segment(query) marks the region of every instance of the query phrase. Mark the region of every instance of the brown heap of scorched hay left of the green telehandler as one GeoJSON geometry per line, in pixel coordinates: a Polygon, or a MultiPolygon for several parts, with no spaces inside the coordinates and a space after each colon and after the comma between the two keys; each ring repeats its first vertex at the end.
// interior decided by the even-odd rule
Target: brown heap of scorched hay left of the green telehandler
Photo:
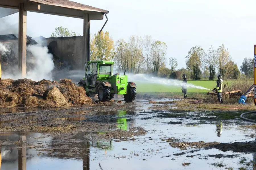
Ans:
{"type": "Polygon", "coordinates": [[[60,107],[92,104],[83,87],[69,79],[61,81],[32,81],[30,79],[2,79],[0,107],[60,107]]]}

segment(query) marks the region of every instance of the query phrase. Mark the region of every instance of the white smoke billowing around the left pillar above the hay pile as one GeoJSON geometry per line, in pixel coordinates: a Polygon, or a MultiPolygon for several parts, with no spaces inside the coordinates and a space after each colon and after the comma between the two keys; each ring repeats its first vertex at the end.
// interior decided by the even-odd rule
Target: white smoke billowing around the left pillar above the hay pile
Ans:
{"type": "Polygon", "coordinates": [[[27,46],[26,77],[21,76],[18,70],[18,40],[16,38],[18,37],[18,23],[10,23],[7,18],[8,16],[0,18],[0,35],[4,35],[2,36],[4,42],[0,43],[2,78],[28,78],[34,81],[47,79],[52,81],[53,55],[49,54],[48,48],[44,46],[45,39],[40,39],[36,45],[33,45],[34,42],[32,42],[31,45],[27,46]]]}

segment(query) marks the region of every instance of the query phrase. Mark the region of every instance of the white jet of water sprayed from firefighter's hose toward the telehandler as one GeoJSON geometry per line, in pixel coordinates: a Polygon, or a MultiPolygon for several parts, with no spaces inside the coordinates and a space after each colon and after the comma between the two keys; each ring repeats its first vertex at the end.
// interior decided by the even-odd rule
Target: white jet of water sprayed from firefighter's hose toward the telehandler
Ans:
{"type": "MultiPolygon", "coordinates": [[[[156,84],[166,84],[166,85],[172,85],[172,86],[182,86],[183,81],[176,80],[176,79],[164,79],[159,77],[152,77],[147,76],[145,74],[127,74],[128,75],[128,81],[134,81],[136,82],[144,82],[144,83],[156,83],[156,84]]],[[[189,88],[196,88],[196,89],[205,89],[209,90],[205,87],[196,86],[191,83],[187,83],[187,87],[189,88]]]]}

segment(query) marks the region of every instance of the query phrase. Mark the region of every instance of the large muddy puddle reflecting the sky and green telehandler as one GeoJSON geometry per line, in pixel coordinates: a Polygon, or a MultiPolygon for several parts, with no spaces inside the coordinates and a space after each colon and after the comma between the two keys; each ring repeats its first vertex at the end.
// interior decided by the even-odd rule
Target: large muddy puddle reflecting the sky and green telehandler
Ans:
{"type": "MultiPolygon", "coordinates": [[[[134,140],[95,140],[92,133],[85,132],[64,139],[62,135],[0,133],[1,170],[256,169],[255,148],[250,148],[256,142],[254,130],[226,120],[199,123],[200,117],[215,117],[198,112],[152,111],[148,109],[150,106],[148,100],[139,100],[138,106],[123,110],[53,119],[113,123],[122,131],[131,127],[142,127],[147,131],[146,135],[133,136],[134,140]],[[174,138],[177,143],[219,142],[222,146],[177,148],[166,141],[168,138],[174,138]],[[241,148],[245,148],[244,151],[241,148]]],[[[108,135],[107,132],[97,132],[97,135],[101,134],[108,135]]]]}

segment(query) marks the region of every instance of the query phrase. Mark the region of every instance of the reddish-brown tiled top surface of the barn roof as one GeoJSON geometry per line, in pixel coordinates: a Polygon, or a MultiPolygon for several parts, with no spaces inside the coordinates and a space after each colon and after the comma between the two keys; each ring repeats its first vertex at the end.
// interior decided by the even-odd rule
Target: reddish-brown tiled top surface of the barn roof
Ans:
{"type": "Polygon", "coordinates": [[[92,6],[89,6],[89,5],[84,5],[84,4],[69,1],[69,0],[42,0],[42,1],[46,1],[46,2],[49,2],[49,3],[53,3],[53,4],[58,4],[58,5],[67,5],[67,6],[71,6],[71,7],[78,7],[78,8],[84,8],[84,9],[89,9],[89,10],[96,10],[96,11],[99,11],[99,12],[106,12],[106,13],[109,12],[109,11],[106,11],[104,9],[99,9],[99,8],[96,8],[96,7],[92,7],[92,6]]]}

